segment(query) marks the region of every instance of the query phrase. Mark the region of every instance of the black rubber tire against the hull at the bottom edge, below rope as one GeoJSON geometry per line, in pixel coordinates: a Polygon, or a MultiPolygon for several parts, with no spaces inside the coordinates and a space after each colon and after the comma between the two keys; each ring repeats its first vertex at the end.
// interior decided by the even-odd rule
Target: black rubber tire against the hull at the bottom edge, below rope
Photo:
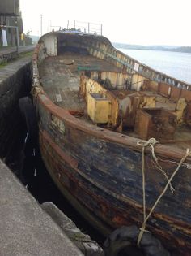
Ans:
{"type": "MultiPolygon", "coordinates": [[[[139,228],[136,226],[117,228],[104,242],[105,256],[122,255],[121,252],[128,247],[137,246],[139,228]]],[[[139,248],[146,256],[170,256],[161,242],[150,232],[144,232],[139,248]]],[[[128,254],[134,256],[134,254],[128,254]]]]}

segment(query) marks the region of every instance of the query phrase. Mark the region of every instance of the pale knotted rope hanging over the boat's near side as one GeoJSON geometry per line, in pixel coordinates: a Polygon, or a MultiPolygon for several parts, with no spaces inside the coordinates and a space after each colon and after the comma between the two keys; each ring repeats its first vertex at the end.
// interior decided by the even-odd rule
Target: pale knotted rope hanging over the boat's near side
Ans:
{"type": "Polygon", "coordinates": [[[176,170],[172,173],[172,176],[168,178],[167,174],[163,171],[162,167],[159,165],[158,159],[155,156],[155,148],[154,145],[159,143],[159,141],[156,141],[155,138],[151,138],[148,141],[138,141],[137,145],[142,146],[142,204],[143,204],[143,223],[142,228],[140,228],[140,232],[138,234],[138,246],[140,245],[140,242],[142,241],[142,236],[144,232],[148,232],[146,230],[146,222],[150,218],[151,214],[155,210],[155,207],[158,205],[160,199],[163,197],[164,193],[166,193],[168,186],[171,188],[172,193],[175,191],[174,188],[172,188],[172,179],[174,176],[176,176],[177,171],[179,171],[180,167],[184,164],[185,159],[191,155],[191,150],[187,149],[185,155],[181,158],[180,163],[176,167],[176,170]],[[163,175],[167,178],[168,182],[166,186],[164,187],[162,193],[160,193],[159,197],[156,199],[155,204],[152,206],[149,214],[146,216],[146,186],[145,186],[145,148],[146,146],[151,146],[151,156],[153,159],[155,159],[155,166],[163,173],[163,175]]]}

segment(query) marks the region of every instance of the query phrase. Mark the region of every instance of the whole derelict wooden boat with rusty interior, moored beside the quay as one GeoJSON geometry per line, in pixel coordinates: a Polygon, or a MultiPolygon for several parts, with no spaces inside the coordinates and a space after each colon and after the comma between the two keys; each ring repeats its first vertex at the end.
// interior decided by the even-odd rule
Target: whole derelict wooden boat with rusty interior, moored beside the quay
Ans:
{"type": "Polygon", "coordinates": [[[146,230],[190,255],[191,85],[76,31],[45,34],[32,64],[40,152],[65,197],[104,234],[140,228],[142,191],[148,215],[176,170],[146,230]]]}

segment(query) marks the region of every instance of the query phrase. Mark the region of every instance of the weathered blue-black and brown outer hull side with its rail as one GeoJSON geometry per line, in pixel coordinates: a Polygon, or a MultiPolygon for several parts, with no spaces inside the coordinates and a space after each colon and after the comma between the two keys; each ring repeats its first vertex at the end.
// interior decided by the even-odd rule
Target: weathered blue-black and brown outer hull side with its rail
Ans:
{"type": "MultiPolygon", "coordinates": [[[[90,41],[88,44],[91,46],[90,41]]],[[[70,203],[105,235],[123,225],[136,224],[141,228],[142,147],[138,145],[139,140],[88,124],[54,105],[40,87],[37,68],[42,59],[40,47],[36,47],[33,55],[33,97],[39,117],[40,151],[50,175],[70,203]]],[[[120,64],[119,58],[114,60],[120,64]]],[[[163,159],[159,163],[170,177],[185,150],[158,144],[155,154],[163,159]]],[[[145,163],[148,214],[167,180],[152,163],[150,147],[146,147],[145,163]]],[[[186,163],[190,165],[190,157],[186,163]]],[[[191,251],[190,184],[189,168],[180,167],[172,180],[175,193],[168,189],[146,223],[146,229],[176,255],[190,255],[191,251]]]]}

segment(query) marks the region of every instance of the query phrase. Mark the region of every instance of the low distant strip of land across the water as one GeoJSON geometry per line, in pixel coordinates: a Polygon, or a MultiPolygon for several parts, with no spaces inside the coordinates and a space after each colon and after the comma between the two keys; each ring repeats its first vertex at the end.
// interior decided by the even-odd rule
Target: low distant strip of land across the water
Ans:
{"type": "Polygon", "coordinates": [[[191,46],[139,46],[139,45],[127,45],[122,43],[112,43],[116,48],[122,48],[127,50],[164,50],[181,53],[191,53],[191,46]]]}

